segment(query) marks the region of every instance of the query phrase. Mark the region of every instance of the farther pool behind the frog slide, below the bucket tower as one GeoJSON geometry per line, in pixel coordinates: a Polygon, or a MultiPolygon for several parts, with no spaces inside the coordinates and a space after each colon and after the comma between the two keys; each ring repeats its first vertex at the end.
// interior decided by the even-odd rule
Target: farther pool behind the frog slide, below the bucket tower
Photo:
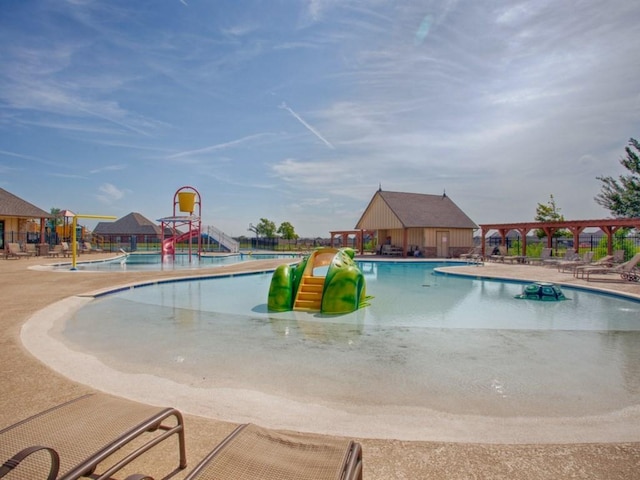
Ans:
{"type": "MultiPolygon", "coordinates": [[[[76,270],[89,272],[185,270],[223,267],[252,260],[297,258],[299,256],[297,253],[235,253],[200,256],[177,253],[175,256],[165,255],[163,258],[159,253],[130,253],[106,260],[92,260],[90,256],[83,256],[82,260],[76,264],[76,270]]],[[[69,265],[59,265],[56,269],[68,270],[69,265]]]]}

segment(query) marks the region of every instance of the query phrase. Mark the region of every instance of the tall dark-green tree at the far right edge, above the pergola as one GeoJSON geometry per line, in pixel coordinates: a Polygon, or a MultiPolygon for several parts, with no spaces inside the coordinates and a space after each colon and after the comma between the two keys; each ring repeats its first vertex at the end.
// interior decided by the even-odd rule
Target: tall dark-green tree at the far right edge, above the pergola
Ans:
{"type": "Polygon", "coordinates": [[[630,175],[621,175],[618,180],[596,177],[603,185],[595,201],[617,218],[635,218],[640,217],[640,143],[630,138],[625,151],[627,156],[620,160],[620,164],[630,175]]]}

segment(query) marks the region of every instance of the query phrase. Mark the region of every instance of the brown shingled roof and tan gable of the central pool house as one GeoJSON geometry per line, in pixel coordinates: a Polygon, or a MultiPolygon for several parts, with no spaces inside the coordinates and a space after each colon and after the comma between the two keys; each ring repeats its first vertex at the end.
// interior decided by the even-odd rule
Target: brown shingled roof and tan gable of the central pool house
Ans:
{"type": "MultiPolygon", "coordinates": [[[[379,217],[379,216],[378,216],[379,217]]],[[[383,215],[384,217],[384,215],[383,215]]],[[[379,220],[377,220],[379,221],[379,220]]],[[[383,229],[396,228],[471,228],[478,226],[446,195],[423,193],[386,192],[378,190],[369,202],[356,228],[383,229]],[[372,224],[374,209],[388,210],[393,218],[389,225],[372,224]]]]}

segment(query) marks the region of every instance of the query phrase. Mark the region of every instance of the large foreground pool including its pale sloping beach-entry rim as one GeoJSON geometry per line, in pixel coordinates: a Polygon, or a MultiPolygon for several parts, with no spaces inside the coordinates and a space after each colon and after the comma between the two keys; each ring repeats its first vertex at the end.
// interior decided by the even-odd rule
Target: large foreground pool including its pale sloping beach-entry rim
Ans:
{"type": "Polygon", "coordinates": [[[638,302],[572,289],[567,301],[525,302],[513,298],[522,284],[412,264],[361,268],[372,304],[341,316],[267,312],[268,274],[74,298],[58,306],[58,320],[39,320],[53,328],[45,343],[60,349],[46,362],[118,395],[271,427],[406,440],[638,440],[638,302]]]}

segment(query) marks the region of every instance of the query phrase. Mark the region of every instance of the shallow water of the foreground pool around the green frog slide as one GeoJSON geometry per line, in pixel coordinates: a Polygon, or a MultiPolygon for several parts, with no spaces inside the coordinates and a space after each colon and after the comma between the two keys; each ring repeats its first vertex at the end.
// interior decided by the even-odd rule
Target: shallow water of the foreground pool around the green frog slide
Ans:
{"type": "Polygon", "coordinates": [[[640,403],[640,302],[363,262],[367,308],[270,313],[271,274],[181,281],[96,299],[64,338],[123,372],[259,390],[346,412],[402,407],[581,416],[640,403]]]}

